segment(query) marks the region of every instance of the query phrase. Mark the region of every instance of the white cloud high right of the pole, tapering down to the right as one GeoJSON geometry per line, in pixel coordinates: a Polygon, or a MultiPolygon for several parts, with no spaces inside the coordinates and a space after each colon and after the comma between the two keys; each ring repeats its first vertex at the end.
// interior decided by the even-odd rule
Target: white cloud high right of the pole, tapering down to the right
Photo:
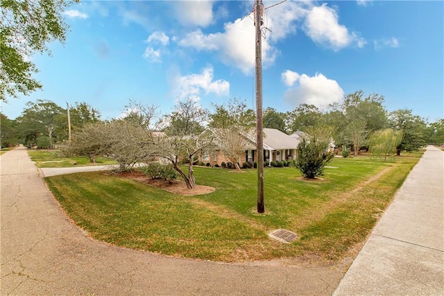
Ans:
{"type": "Polygon", "coordinates": [[[324,3],[309,10],[304,23],[305,33],[314,42],[339,51],[347,46],[356,44],[359,48],[366,44],[364,38],[357,33],[348,31],[348,28],[339,24],[339,17],[333,8],[324,3]]]}

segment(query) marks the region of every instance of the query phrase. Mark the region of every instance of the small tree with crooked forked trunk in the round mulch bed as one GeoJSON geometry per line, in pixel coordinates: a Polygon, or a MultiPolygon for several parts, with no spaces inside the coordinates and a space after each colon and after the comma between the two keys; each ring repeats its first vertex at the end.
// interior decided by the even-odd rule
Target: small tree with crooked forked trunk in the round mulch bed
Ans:
{"type": "Polygon", "coordinates": [[[179,101],[173,112],[165,116],[165,134],[154,137],[154,155],[171,162],[189,189],[196,185],[193,170],[195,159],[214,146],[216,136],[203,128],[206,121],[207,111],[188,98],[185,102],[179,101]],[[180,168],[182,161],[188,164],[187,174],[180,168]]]}

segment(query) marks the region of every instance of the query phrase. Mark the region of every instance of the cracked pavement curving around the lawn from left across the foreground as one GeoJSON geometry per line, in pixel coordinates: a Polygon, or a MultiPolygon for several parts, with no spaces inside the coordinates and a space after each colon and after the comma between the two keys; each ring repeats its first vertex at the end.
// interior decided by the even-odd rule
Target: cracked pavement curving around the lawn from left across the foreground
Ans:
{"type": "Polygon", "coordinates": [[[346,263],[216,263],[94,241],[62,214],[26,149],[1,162],[1,295],[332,295],[346,263]]]}

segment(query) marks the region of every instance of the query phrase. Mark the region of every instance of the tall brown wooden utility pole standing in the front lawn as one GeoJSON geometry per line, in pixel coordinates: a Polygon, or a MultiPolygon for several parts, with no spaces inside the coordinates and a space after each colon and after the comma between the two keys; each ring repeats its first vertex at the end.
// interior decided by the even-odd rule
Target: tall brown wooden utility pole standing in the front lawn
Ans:
{"type": "Polygon", "coordinates": [[[264,213],[264,137],[262,123],[262,0],[255,0],[256,28],[256,147],[257,147],[257,213],[264,213]]]}

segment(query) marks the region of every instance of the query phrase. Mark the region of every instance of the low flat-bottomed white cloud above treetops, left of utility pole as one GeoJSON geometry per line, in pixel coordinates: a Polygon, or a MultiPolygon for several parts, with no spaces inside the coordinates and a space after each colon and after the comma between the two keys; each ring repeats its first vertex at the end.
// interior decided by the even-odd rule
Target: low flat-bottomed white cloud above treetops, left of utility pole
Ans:
{"type": "Polygon", "coordinates": [[[213,68],[206,67],[199,74],[176,77],[176,91],[179,99],[190,96],[198,97],[200,92],[228,96],[230,94],[230,82],[226,80],[213,80],[213,68]]]}

